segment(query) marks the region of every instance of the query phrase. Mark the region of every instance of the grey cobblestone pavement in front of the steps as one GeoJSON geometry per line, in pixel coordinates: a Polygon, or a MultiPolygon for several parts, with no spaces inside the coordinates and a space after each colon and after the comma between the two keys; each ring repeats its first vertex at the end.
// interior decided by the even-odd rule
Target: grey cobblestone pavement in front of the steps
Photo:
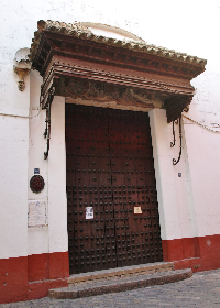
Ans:
{"type": "Polygon", "coordinates": [[[220,307],[220,270],[196,273],[168,285],[106,294],[79,299],[42,299],[1,304],[0,308],[212,308],[220,307]]]}

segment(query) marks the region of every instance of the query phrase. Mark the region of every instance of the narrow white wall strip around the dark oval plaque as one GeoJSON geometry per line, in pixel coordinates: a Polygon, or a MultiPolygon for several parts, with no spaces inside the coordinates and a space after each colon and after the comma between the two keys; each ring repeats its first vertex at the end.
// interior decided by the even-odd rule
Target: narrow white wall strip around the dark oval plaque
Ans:
{"type": "MultiPolygon", "coordinates": [[[[45,110],[40,108],[40,95],[42,77],[36,70],[30,74],[30,127],[29,127],[29,201],[45,201],[48,210],[48,162],[44,160],[46,151],[45,110]],[[30,189],[30,179],[34,175],[34,168],[40,169],[40,175],[44,178],[45,187],[40,194],[30,189]]],[[[28,229],[29,248],[28,254],[48,253],[48,226],[31,227],[28,229]]]]}

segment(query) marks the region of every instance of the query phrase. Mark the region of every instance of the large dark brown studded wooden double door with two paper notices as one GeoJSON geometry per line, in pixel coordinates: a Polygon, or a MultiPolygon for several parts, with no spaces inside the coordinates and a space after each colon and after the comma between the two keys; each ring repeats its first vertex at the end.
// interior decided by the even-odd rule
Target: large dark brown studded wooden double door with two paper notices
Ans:
{"type": "Polygon", "coordinates": [[[148,114],[66,105],[66,155],[70,273],[162,261],[148,114]]]}

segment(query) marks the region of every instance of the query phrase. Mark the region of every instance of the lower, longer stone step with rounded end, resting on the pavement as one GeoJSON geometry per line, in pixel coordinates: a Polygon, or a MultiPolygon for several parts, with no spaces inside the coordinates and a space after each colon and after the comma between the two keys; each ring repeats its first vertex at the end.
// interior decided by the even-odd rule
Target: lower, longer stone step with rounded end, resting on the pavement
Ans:
{"type": "Polygon", "coordinates": [[[48,296],[57,299],[79,298],[107,293],[118,293],[153,285],[174,283],[191,277],[190,268],[168,272],[157,272],[123,278],[97,279],[79,284],[70,284],[68,287],[48,290],[48,296]]]}

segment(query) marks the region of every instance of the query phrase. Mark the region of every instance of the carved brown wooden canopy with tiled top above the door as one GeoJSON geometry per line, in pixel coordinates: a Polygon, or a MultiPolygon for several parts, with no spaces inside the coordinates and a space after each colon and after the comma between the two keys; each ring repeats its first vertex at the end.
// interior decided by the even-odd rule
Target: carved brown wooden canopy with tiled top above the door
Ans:
{"type": "Polygon", "coordinates": [[[42,107],[54,95],[66,101],[150,111],[179,118],[194,96],[190,80],[206,61],[143,41],[95,35],[88,26],[40,21],[30,58],[43,76],[42,107]]]}

